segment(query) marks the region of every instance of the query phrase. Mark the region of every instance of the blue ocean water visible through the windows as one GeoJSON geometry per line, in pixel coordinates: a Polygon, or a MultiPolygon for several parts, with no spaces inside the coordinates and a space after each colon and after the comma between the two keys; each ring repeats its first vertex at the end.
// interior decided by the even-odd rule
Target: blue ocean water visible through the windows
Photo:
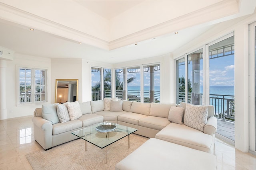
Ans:
{"type": "MultiPolygon", "coordinates": [[[[128,86],[128,90],[140,90],[140,86],[128,86]]],[[[150,90],[149,86],[144,86],[144,90],[150,90]]],[[[155,86],[155,91],[160,91],[160,86],[155,86]]],[[[203,87],[200,87],[203,93],[203,87]]],[[[210,94],[234,96],[234,86],[210,86],[210,94]]]]}

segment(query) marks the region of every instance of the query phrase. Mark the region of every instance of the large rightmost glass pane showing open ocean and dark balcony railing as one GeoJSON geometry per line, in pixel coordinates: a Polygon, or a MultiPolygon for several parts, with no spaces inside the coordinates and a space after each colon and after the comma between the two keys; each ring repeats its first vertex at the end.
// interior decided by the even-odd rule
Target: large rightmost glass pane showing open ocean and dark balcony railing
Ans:
{"type": "Polygon", "coordinates": [[[234,121],[234,36],[209,46],[223,55],[209,60],[210,105],[216,117],[234,121]]]}

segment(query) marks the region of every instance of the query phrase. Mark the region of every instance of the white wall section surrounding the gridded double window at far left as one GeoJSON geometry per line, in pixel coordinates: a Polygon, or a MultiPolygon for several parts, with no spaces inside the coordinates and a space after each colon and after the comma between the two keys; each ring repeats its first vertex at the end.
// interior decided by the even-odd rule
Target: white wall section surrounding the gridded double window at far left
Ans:
{"type": "MultiPolygon", "coordinates": [[[[42,68],[48,70],[47,89],[48,96],[50,96],[51,88],[51,62],[48,58],[28,56],[22,54],[14,54],[13,61],[7,61],[6,68],[6,109],[7,119],[12,117],[20,117],[26,115],[33,115],[35,108],[42,107],[42,103],[37,104],[16,104],[17,86],[19,81],[16,75],[16,66],[23,66],[29,68],[42,68]]],[[[4,80],[1,80],[4,81],[4,80]]],[[[50,98],[49,98],[50,99],[50,98]]],[[[49,100],[48,102],[51,102],[49,100]]]]}

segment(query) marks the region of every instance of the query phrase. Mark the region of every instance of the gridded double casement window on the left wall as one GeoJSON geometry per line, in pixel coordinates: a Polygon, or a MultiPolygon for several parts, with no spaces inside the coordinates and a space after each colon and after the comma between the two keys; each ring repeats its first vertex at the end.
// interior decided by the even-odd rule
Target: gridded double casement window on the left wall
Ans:
{"type": "Polygon", "coordinates": [[[46,101],[46,70],[19,68],[19,103],[46,101]]]}

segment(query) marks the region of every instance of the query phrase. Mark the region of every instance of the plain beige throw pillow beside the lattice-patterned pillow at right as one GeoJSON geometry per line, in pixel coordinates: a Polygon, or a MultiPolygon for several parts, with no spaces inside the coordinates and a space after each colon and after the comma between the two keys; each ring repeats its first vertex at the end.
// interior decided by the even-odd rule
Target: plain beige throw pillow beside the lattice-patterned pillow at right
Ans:
{"type": "Polygon", "coordinates": [[[182,124],[183,114],[183,107],[172,106],[169,111],[168,120],[174,123],[182,124]]]}

